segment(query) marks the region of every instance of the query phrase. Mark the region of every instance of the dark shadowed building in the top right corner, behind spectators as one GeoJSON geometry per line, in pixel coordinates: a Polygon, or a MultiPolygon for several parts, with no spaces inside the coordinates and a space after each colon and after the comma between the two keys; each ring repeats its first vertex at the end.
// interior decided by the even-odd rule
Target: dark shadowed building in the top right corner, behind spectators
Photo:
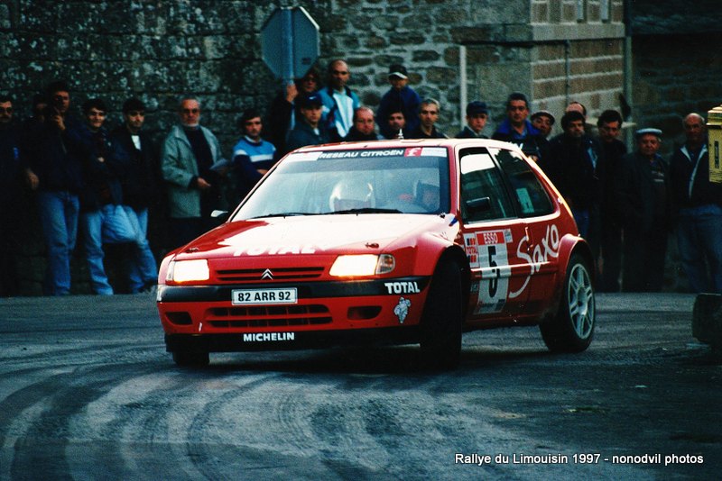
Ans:
{"type": "Polygon", "coordinates": [[[663,152],[684,141],[687,113],[707,116],[722,104],[722,5],[716,0],[634,0],[628,32],[632,41],[632,104],[644,126],[662,129],[663,152]]]}

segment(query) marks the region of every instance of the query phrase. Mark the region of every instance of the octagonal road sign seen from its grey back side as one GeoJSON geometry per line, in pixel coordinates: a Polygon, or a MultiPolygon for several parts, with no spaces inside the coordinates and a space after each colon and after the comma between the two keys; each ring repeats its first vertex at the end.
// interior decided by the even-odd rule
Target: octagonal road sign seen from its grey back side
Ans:
{"type": "Polygon", "coordinates": [[[261,29],[261,45],[268,68],[291,82],[319,58],[319,24],[301,6],[277,8],[261,29]]]}

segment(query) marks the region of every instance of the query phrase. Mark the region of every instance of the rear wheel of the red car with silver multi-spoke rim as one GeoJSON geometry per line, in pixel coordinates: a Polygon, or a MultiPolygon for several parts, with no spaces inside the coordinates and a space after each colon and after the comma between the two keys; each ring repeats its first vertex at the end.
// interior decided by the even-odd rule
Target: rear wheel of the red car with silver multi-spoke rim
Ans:
{"type": "Polygon", "coordinates": [[[594,287],[588,262],[579,254],[572,254],[559,311],[539,325],[542,339],[552,352],[581,352],[592,341],[595,321],[594,287]]]}

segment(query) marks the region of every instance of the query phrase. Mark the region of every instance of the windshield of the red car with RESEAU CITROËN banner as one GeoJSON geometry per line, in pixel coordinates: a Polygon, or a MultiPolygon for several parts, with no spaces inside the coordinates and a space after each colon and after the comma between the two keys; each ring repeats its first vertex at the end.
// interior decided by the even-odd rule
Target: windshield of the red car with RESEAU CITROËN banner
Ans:
{"type": "Polygon", "coordinates": [[[446,148],[292,153],[233,221],[327,213],[449,212],[446,148]]]}

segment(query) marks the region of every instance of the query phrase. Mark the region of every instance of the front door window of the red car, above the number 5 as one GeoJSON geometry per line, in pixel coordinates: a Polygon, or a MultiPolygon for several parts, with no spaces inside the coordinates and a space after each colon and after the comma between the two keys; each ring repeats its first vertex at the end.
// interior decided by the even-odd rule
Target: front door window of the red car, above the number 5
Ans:
{"type": "Polygon", "coordinates": [[[461,168],[461,217],[465,222],[491,221],[514,216],[504,181],[494,160],[485,152],[464,155],[461,168]]]}

